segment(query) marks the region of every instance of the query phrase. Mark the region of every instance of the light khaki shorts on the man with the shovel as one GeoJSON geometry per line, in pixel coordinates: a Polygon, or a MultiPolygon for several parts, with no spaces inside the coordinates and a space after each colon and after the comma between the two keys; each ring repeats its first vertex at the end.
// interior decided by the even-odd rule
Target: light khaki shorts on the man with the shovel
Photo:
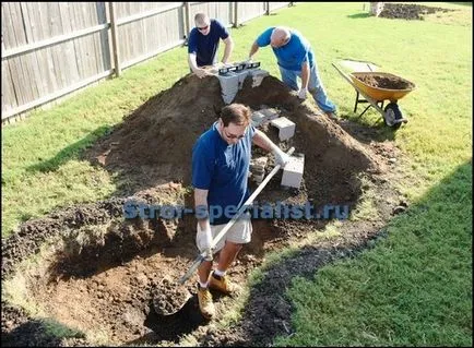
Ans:
{"type": "MultiPolygon", "coordinates": [[[[211,232],[212,232],[212,239],[214,240],[215,237],[218,235],[218,232],[222,231],[222,229],[227,224],[223,225],[211,225],[211,232]]],[[[197,228],[198,232],[195,233],[195,244],[198,245],[198,249],[200,252],[203,252],[203,241],[204,241],[204,233],[201,232],[201,228],[197,228]]],[[[214,247],[213,252],[216,253],[221,249],[224,248],[224,244],[226,241],[237,243],[237,244],[245,244],[250,242],[252,237],[252,221],[250,219],[250,214],[245,213],[242,216],[234,223],[234,225],[228,229],[227,233],[220,240],[220,242],[214,247]]]]}

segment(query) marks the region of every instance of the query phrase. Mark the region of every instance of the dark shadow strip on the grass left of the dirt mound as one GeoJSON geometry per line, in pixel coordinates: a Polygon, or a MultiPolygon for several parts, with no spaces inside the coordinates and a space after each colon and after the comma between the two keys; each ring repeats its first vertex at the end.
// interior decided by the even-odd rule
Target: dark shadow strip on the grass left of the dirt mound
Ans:
{"type": "Polygon", "coordinates": [[[56,171],[60,166],[62,166],[67,161],[71,159],[80,158],[84,149],[92,146],[99,137],[108,134],[109,132],[110,132],[110,127],[102,125],[96,130],[94,130],[93,132],[88,133],[80,141],[64,147],[59,153],[57,153],[54,157],[46,160],[42,160],[35,165],[27,167],[26,171],[31,173],[56,171]]]}

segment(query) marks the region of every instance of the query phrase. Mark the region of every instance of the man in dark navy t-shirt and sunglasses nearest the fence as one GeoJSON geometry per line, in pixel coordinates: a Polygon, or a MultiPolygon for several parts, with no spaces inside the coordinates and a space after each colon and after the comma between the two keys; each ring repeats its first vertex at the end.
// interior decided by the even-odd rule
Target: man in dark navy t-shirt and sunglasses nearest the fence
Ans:
{"type": "Polygon", "coordinates": [[[234,41],[226,27],[216,20],[210,20],[205,13],[197,13],[194,23],[195,27],[189,34],[188,62],[191,71],[202,79],[208,73],[201,67],[213,65],[216,62],[220,39],[225,45],[222,58],[224,64],[230,57],[234,41]]]}

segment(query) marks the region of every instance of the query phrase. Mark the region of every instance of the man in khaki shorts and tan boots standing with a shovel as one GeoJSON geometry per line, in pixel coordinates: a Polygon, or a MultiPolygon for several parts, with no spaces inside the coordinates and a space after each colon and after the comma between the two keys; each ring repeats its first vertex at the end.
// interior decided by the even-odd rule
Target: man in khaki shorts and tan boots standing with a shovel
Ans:
{"type": "Polygon", "coordinates": [[[244,243],[251,238],[252,225],[247,213],[232,226],[211,250],[212,240],[249,197],[247,188],[252,143],[271,151],[282,167],[289,156],[263,132],[251,124],[251,111],[241,104],[230,104],[221,118],[204,132],[192,148],[192,185],[198,217],[195,242],[206,255],[198,268],[199,308],[205,319],[214,315],[209,287],[226,295],[237,290],[226,276],[244,243]],[[202,213],[205,214],[202,214],[202,213]],[[246,215],[247,214],[247,215],[246,215]],[[211,273],[213,253],[218,252],[217,267],[211,273]]]}

